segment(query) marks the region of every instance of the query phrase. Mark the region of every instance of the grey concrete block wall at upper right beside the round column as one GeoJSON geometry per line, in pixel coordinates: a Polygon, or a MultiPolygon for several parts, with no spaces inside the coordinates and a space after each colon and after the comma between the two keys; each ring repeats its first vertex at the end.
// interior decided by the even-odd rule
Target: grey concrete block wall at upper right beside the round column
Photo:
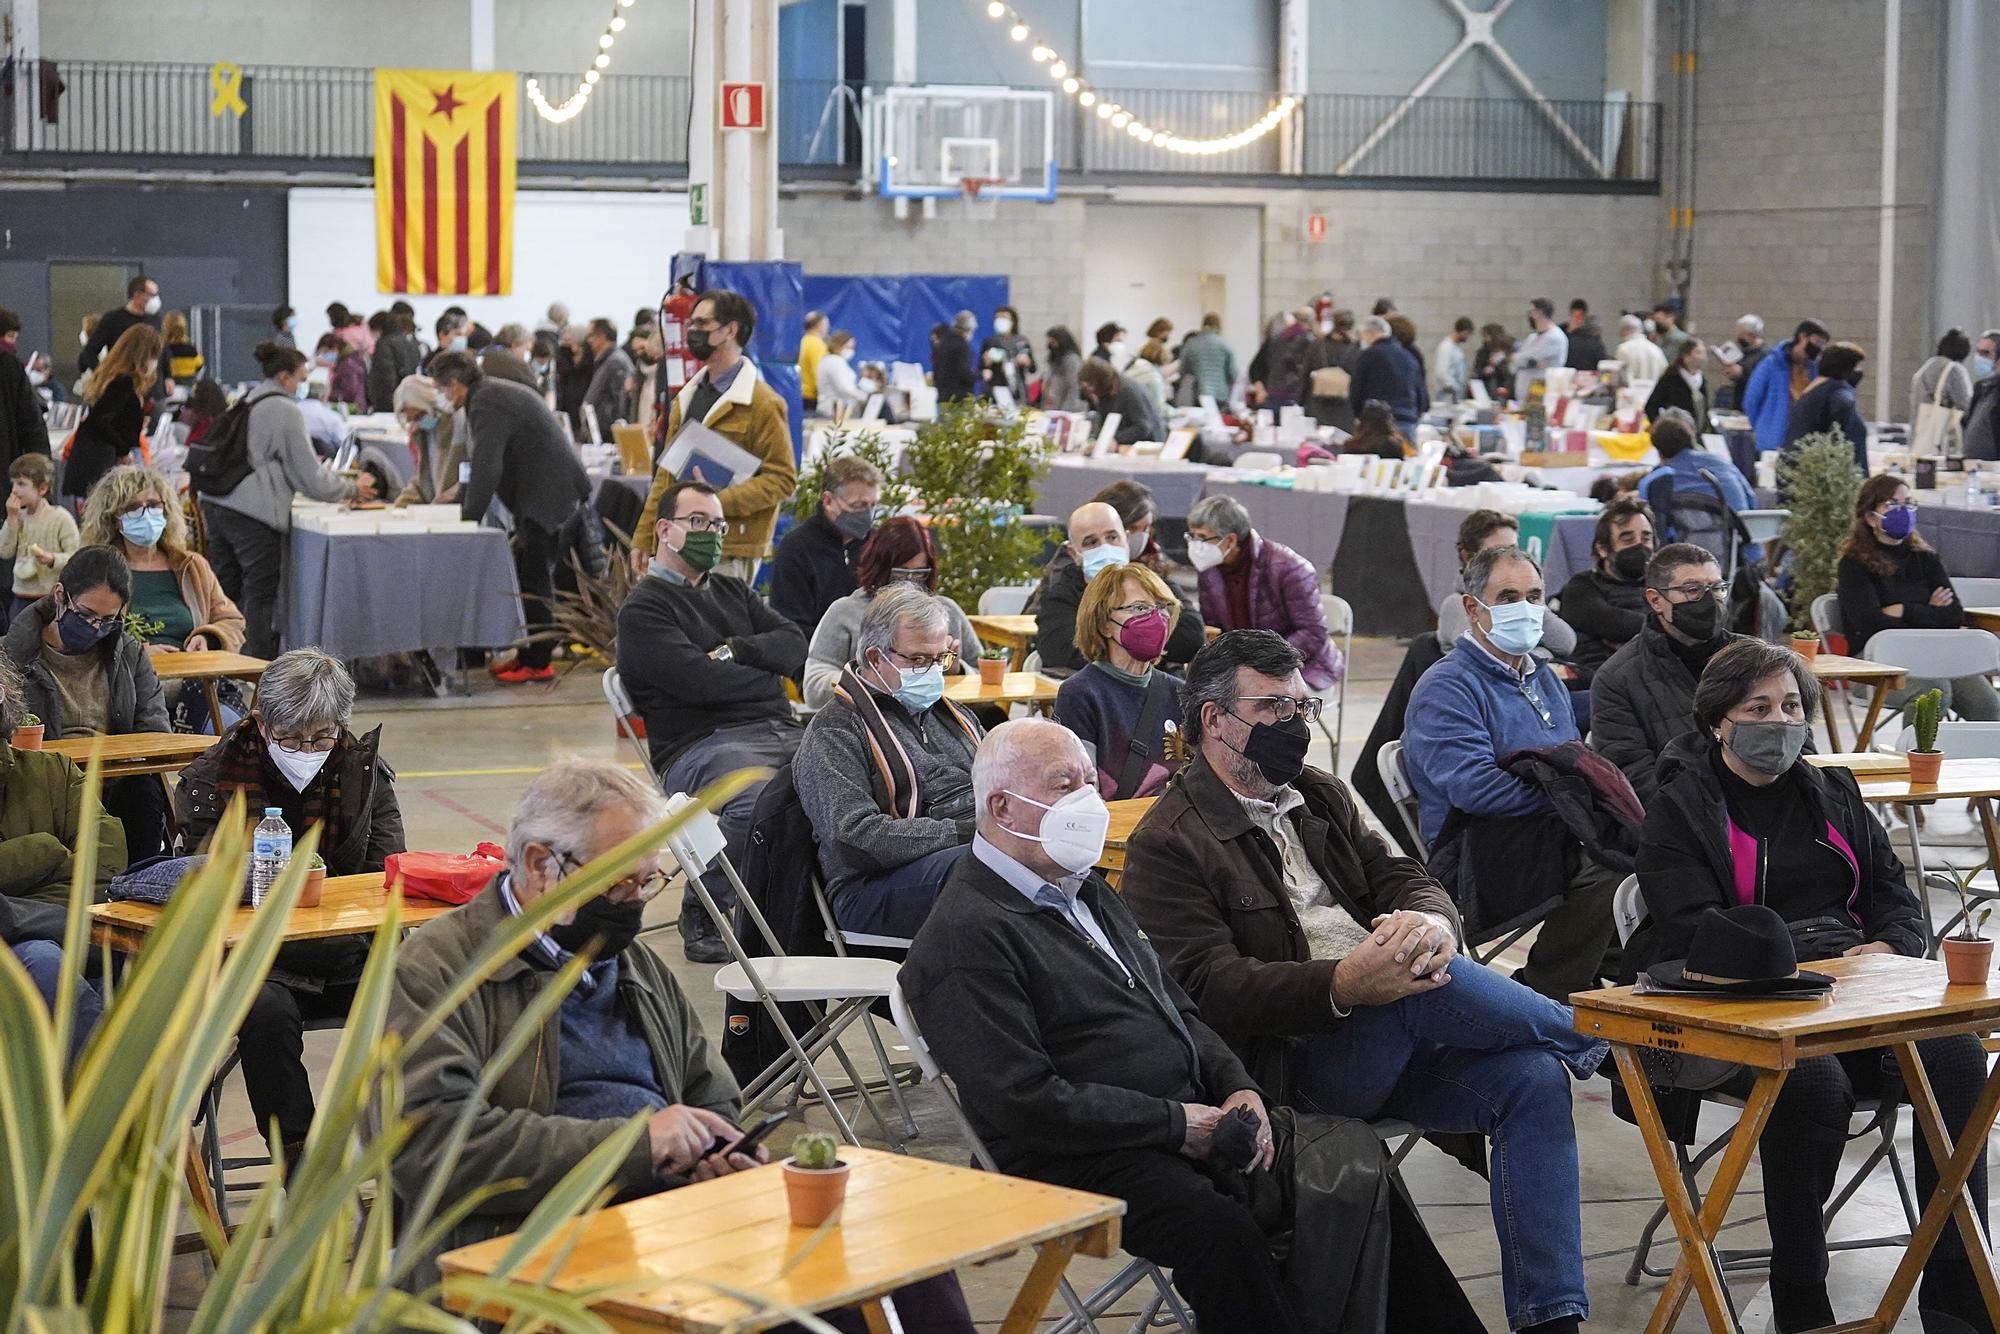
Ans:
{"type": "MultiPolygon", "coordinates": [[[[1744,312],[1784,338],[1804,316],[1868,348],[1888,416],[1940,330],[1928,320],[1936,0],[1902,0],[1896,260],[1890,346],[1878,346],[1882,0],[1704,0],[1696,60],[1690,316],[1726,338],[1744,312]]],[[[1876,384],[1862,410],[1876,416],[1876,384]]]]}

